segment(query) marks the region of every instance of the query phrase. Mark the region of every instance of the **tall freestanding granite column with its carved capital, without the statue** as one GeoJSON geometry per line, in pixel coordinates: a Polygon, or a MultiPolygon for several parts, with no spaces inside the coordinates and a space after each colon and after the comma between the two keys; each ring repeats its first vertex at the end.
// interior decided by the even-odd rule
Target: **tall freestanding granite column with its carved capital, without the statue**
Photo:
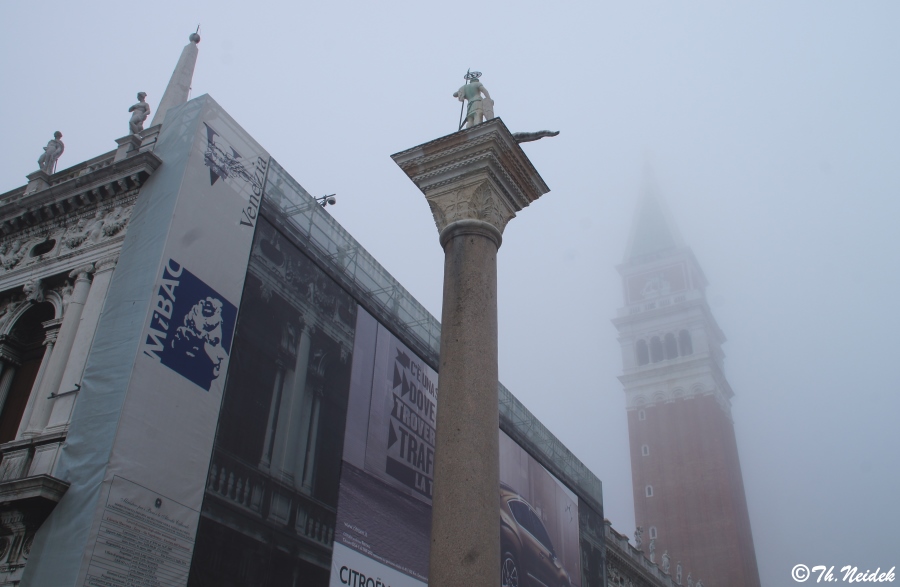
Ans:
{"type": "Polygon", "coordinates": [[[392,156],[425,194],[444,249],[430,587],[500,581],[497,249],[549,191],[500,119],[392,156]]]}

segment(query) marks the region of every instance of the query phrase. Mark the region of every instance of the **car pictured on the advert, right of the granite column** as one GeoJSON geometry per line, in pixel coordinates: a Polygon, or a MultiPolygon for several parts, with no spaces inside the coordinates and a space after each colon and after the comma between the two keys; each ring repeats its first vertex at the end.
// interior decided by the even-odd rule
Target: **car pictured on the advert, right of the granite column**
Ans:
{"type": "Polygon", "coordinates": [[[570,587],[553,541],[534,508],[500,484],[501,587],[570,587]]]}

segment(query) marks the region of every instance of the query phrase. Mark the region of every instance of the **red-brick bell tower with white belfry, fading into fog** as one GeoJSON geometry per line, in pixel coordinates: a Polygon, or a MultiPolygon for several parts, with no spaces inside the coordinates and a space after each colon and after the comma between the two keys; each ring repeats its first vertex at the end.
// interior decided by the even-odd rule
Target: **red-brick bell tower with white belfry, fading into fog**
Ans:
{"type": "Polygon", "coordinates": [[[635,523],[669,574],[710,587],[759,587],[719,329],[706,278],[662,200],[638,204],[613,320],[622,345],[635,523]]]}

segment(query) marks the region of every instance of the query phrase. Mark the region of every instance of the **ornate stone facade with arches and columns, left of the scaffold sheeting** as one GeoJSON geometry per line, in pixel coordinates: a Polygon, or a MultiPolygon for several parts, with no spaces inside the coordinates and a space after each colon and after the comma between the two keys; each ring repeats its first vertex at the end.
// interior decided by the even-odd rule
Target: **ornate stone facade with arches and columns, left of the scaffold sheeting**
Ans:
{"type": "Polygon", "coordinates": [[[135,200],[161,163],[152,139],[124,142],[0,195],[0,584],[17,583],[66,490],[54,472],[85,361],[135,200]]]}

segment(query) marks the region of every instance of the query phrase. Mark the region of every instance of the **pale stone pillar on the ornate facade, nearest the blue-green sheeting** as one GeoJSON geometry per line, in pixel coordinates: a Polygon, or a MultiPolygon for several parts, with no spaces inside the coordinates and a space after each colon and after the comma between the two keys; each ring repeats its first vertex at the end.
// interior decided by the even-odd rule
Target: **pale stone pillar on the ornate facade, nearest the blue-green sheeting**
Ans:
{"type": "MultiPolygon", "coordinates": [[[[116,268],[117,259],[118,255],[114,255],[94,264],[94,278],[91,281],[90,291],[87,294],[87,300],[84,302],[84,308],[81,310],[78,330],[72,343],[68,362],[63,371],[59,393],[74,391],[81,385],[81,376],[84,374],[88,353],[90,353],[91,345],[94,342],[94,333],[97,331],[97,324],[100,322],[100,313],[103,310],[103,303],[106,301],[106,293],[109,291],[109,282],[112,279],[113,270],[116,268]]],[[[77,281],[75,285],[77,288],[77,281]]],[[[72,292],[72,300],[75,300],[74,291],[72,292]]],[[[72,302],[69,302],[70,309],[72,307],[71,304],[72,302]]],[[[69,425],[69,418],[72,416],[72,408],[75,406],[77,397],[77,392],[71,393],[58,398],[53,403],[50,420],[47,423],[47,432],[62,430],[69,425]]]]}

